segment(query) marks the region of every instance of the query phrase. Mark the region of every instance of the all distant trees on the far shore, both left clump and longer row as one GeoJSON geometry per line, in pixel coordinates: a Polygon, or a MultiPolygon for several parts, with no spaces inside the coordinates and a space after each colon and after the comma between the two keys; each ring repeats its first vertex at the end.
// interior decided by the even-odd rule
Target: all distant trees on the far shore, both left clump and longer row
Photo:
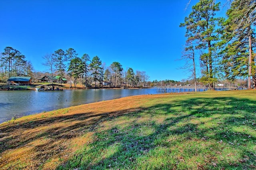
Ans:
{"type": "MultiPolygon", "coordinates": [[[[42,78],[42,74],[34,71],[32,64],[25,60],[25,56],[12,47],[6,47],[1,53],[1,81],[5,82],[11,76],[31,76],[32,80],[42,78]]],[[[76,87],[77,83],[82,86],[149,86],[149,76],[145,71],[134,72],[132,68],[124,69],[119,62],[113,62],[106,66],[98,56],[90,59],[88,54],[78,57],[72,48],[67,50],[58,49],[54,53],[48,53],[42,57],[44,66],[50,71],[50,82],[58,75],[58,82],[62,84],[63,78],[68,77],[70,87],[72,82],[76,87]]]]}

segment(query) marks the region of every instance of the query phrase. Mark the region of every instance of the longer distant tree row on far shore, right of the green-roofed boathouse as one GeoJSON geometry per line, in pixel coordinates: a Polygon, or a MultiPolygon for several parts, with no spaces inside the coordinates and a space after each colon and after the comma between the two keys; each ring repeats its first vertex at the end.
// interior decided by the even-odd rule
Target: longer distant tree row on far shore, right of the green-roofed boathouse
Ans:
{"type": "MultiPolygon", "coordinates": [[[[94,85],[100,87],[103,84],[109,87],[120,86],[147,86],[149,76],[145,71],[134,72],[132,68],[124,68],[119,62],[113,62],[106,66],[98,56],[90,59],[88,54],[78,57],[76,51],[72,48],[66,51],[58,49],[53,54],[44,55],[44,65],[51,70],[56,68],[60,79],[64,76],[65,69],[70,80],[74,80],[74,86],[79,81],[85,86],[94,85]]],[[[53,76],[51,76],[53,77],[53,76]]],[[[70,87],[72,82],[70,81],[70,87]]]]}

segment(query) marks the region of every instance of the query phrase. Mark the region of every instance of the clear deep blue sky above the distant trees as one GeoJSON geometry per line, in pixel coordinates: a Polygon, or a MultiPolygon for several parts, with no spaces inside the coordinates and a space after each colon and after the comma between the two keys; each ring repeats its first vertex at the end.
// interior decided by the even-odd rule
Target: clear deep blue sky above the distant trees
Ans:
{"type": "Polygon", "coordinates": [[[197,1],[189,0],[0,0],[0,52],[20,51],[37,71],[42,56],[73,48],[109,66],[146,71],[150,80],[187,78],[180,59],[180,28],[197,1]]]}

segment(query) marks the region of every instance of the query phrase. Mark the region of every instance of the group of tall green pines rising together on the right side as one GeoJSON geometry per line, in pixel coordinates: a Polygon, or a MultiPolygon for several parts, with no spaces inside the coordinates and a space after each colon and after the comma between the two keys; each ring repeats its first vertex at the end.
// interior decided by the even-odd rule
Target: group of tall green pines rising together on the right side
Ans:
{"type": "Polygon", "coordinates": [[[180,23],[186,28],[182,59],[196,84],[196,59],[200,81],[214,89],[218,79],[247,78],[248,89],[256,88],[256,1],[232,0],[225,17],[216,15],[220,2],[200,0],[180,23]],[[252,81],[251,81],[252,77],[252,81]],[[252,82],[252,84],[251,84],[252,82]]]}

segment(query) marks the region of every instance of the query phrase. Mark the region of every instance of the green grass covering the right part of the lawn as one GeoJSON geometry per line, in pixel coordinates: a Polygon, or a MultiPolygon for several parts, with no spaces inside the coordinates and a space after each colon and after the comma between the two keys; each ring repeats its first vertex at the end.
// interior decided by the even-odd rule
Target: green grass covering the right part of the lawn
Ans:
{"type": "Polygon", "coordinates": [[[145,100],[91,131],[92,142],[57,169],[256,169],[256,91],[145,100]]]}

